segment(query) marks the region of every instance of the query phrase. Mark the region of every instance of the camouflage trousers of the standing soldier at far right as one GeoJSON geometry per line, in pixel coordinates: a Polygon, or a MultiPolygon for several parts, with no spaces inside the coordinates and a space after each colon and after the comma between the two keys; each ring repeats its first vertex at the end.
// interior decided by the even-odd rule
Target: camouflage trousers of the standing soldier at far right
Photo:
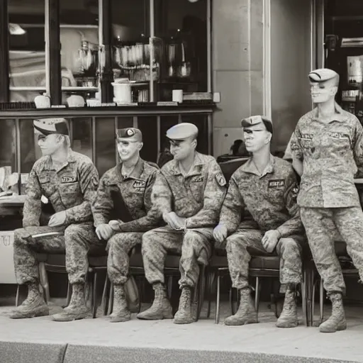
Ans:
{"type": "Polygon", "coordinates": [[[347,243],[347,252],[363,281],[363,212],[360,207],[303,208],[301,221],[308,236],[316,269],[328,294],[345,294],[345,282],[335,255],[337,232],[347,243]]]}

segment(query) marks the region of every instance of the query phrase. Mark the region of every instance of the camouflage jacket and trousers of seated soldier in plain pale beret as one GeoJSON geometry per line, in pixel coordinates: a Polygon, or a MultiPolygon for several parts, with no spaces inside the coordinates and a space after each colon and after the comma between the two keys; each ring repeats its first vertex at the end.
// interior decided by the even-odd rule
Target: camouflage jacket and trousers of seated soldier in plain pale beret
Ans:
{"type": "Polygon", "coordinates": [[[181,288],[195,286],[198,263],[207,264],[211,256],[213,226],[218,221],[224,195],[225,179],[214,157],[196,152],[186,175],[181,173],[176,160],[162,167],[152,198],[160,214],[174,211],[186,218],[186,230],[162,227],[143,235],[145,277],[150,284],[164,283],[164,259],[167,252],[172,252],[181,254],[181,288]]]}

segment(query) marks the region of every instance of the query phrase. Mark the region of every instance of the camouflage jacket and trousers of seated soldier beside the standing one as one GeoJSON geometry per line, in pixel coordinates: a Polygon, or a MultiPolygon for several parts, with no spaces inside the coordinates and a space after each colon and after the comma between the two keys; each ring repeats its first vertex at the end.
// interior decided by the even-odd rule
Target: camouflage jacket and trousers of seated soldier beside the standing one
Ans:
{"type": "Polygon", "coordinates": [[[233,287],[249,286],[251,255],[269,255],[261,242],[267,230],[278,230],[281,235],[276,247],[281,284],[301,282],[304,236],[297,194],[291,164],[272,155],[262,175],[251,159],[233,174],[220,212],[220,224],[228,229],[226,250],[233,287]]]}

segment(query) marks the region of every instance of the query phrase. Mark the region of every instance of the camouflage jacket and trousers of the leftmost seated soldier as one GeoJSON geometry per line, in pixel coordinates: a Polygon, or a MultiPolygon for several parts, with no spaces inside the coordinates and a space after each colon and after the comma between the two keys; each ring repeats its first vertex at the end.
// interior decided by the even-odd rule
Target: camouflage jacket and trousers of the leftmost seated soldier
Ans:
{"type": "Polygon", "coordinates": [[[50,157],[35,162],[27,184],[23,209],[23,228],[14,231],[14,265],[18,284],[33,284],[39,279],[35,252],[66,252],[66,269],[71,284],[84,283],[90,247],[101,247],[92,225],[91,202],[96,195],[99,175],[88,157],[69,151],[67,164],[55,170],[50,157]],[[41,196],[55,212],[65,211],[65,226],[40,226],[41,196]],[[48,232],[64,235],[40,237],[48,232]]]}

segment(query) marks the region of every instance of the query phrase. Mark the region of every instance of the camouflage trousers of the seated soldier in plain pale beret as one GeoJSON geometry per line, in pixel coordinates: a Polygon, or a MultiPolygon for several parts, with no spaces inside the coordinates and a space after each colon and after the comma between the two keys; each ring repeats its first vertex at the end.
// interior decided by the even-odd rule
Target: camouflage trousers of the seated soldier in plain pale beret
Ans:
{"type": "Polygon", "coordinates": [[[181,255],[179,285],[196,286],[199,265],[208,264],[211,257],[213,228],[193,228],[184,231],[160,227],[143,235],[145,277],[150,284],[164,284],[164,261],[168,252],[181,255]]]}

